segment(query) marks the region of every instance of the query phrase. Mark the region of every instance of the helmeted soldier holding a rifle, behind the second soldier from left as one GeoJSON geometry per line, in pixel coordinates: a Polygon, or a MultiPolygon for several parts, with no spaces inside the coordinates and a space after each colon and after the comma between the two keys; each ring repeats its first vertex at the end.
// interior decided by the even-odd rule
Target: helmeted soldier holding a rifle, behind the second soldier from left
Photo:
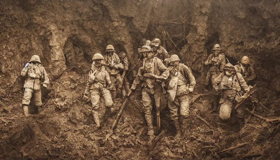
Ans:
{"type": "Polygon", "coordinates": [[[109,73],[111,82],[113,84],[111,88],[112,97],[115,99],[117,97],[117,89],[122,82],[119,70],[123,69],[123,65],[120,63],[120,58],[115,53],[115,49],[112,45],[108,45],[106,47],[105,63],[107,66],[106,70],[109,73]]]}

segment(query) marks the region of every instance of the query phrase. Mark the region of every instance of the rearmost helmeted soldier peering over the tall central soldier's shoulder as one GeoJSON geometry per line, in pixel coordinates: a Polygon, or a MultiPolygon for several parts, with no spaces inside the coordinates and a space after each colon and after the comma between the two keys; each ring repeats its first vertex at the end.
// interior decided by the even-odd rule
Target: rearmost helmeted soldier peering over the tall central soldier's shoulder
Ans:
{"type": "Polygon", "coordinates": [[[151,42],[151,47],[157,58],[163,60],[164,62],[168,61],[168,58],[170,56],[169,56],[168,52],[163,48],[163,46],[160,45],[160,40],[158,38],[155,38],[151,42]]]}

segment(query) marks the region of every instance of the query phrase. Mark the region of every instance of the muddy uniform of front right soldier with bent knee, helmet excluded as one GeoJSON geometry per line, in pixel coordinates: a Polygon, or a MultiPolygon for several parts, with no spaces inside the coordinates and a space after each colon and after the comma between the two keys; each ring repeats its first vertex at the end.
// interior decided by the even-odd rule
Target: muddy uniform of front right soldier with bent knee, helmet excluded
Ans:
{"type": "MultiPolygon", "coordinates": [[[[241,87],[244,90],[248,90],[248,85],[240,73],[236,73],[229,78],[224,72],[215,78],[213,83],[219,85],[219,90],[222,90],[222,97],[219,102],[221,104],[219,117],[223,121],[228,121],[230,120],[234,102],[238,103],[241,101],[241,87]]],[[[245,103],[242,103],[242,106],[236,110],[236,113],[238,118],[244,117],[245,103]]]]}

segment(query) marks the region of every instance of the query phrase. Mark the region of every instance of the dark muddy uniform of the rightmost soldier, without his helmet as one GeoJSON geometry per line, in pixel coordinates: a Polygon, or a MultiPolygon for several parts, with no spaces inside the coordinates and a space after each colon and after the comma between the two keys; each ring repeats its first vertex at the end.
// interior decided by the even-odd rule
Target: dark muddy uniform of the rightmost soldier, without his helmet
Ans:
{"type": "Polygon", "coordinates": [[[244,78],[245,82],[248,83],[250,80],[253,80],[256,78],[256,73],[254,68],[252,68],[250,65],[247,67],[244,67],[240,62],[237,63],[237,65],[234,66],[236,72],[241,73],[242,77],[244,78]]]}

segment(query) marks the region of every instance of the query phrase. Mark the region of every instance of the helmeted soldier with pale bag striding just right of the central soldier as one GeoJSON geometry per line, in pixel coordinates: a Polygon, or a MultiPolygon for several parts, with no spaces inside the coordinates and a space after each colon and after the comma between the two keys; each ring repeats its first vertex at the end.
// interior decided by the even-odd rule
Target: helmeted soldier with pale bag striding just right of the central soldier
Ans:
{"type": "Polygon", "coordinates": [[[181,136],[178,108],[180,107],[180,113],[184,119],[189,117],[188,93],[193,91],[196,82],[191,70],[183,63],[180,63],[180,59],[176,54],[170,57],[168,70],[170,73],[167,84],[168,109],[177,130],[175,137],[178,138],[181,136]]]}

